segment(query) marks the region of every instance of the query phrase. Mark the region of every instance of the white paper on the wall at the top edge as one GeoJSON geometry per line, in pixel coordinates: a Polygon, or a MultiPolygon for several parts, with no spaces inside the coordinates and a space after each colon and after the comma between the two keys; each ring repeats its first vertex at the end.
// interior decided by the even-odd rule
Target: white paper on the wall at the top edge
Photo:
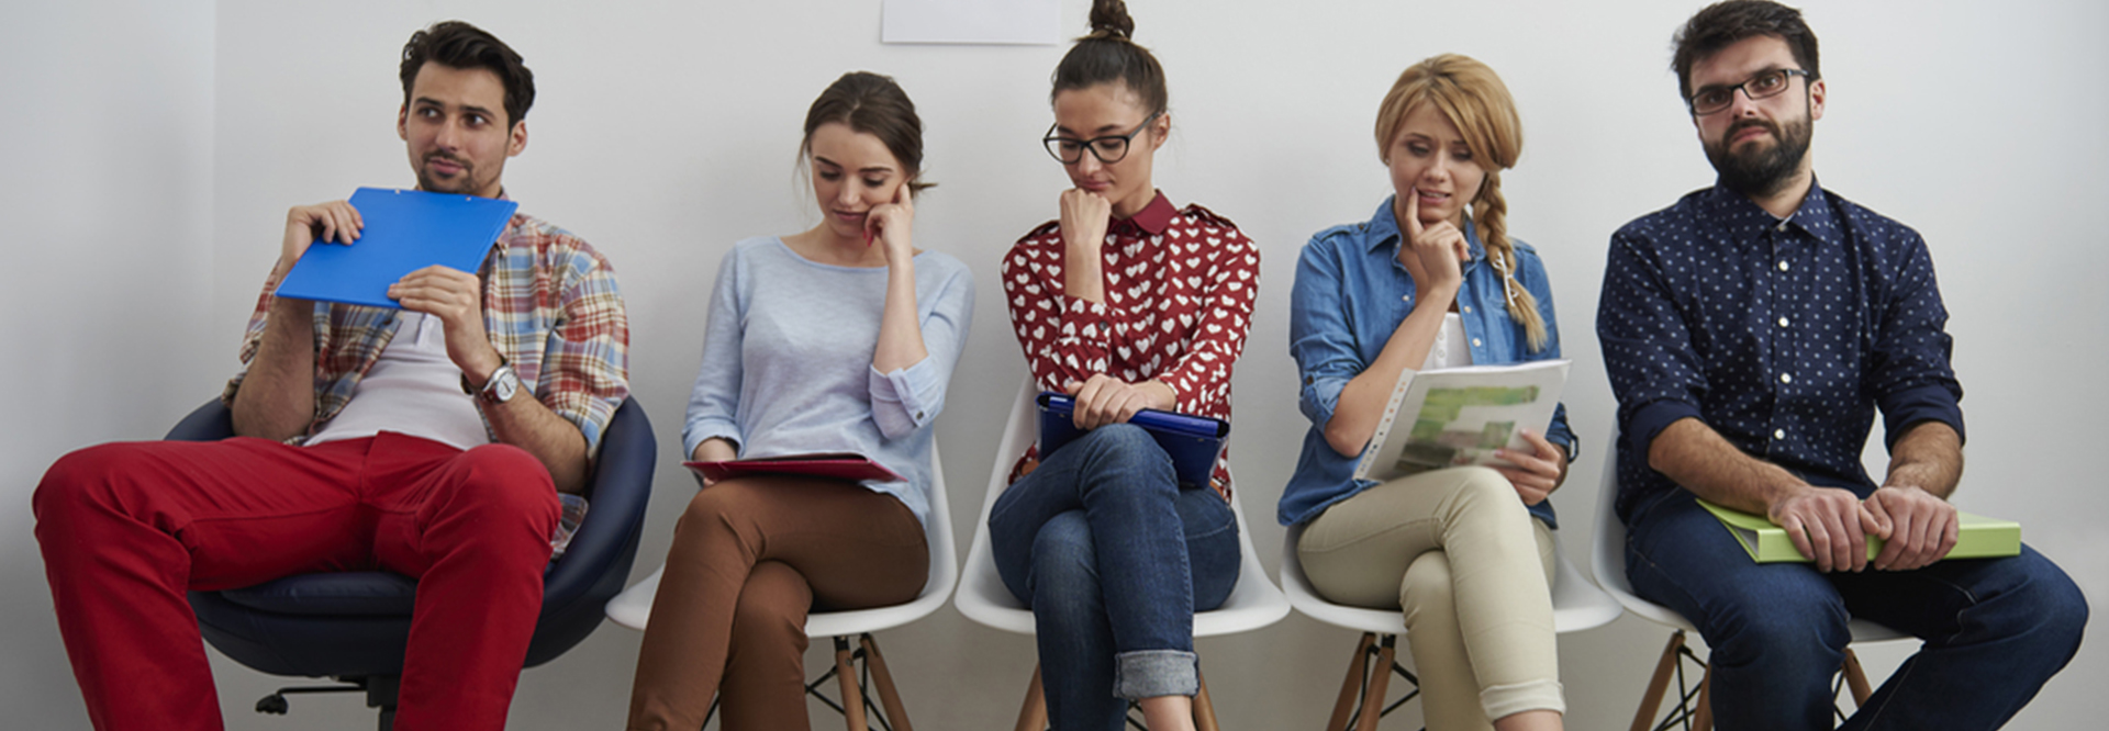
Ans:
{"type": "Polygon", "coordinates": [[[1059,44],[1059,0],[886,0],[884,42],[1059,44]]]}

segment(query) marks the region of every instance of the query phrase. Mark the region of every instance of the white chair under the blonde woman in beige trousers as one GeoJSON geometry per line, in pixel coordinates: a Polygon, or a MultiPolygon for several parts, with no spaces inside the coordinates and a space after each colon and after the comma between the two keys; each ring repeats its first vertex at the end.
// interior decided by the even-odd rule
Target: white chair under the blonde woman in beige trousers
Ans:
{"type": "MultiPolygon", "coordinates": [[[[1335,605],[1318,596],[1310,577],[1303,575],[1303,560],[1297,556],[1297,539],[1301,537],[1303,527],[1297,525],[1282,539],[1282,592],[1289,594],[1289,605],[1305,617],[1362,632],[1348,666],[1348,678],[1341,680],[1339,699],[1333,704],[1333,718],[1324,727],[1327,731],[1348,729],[1352,718],[1356,731],[1373,731],[1377,718],[1419,695],[1419,678],[1396,661],[1396,643],[1407,634],[1407,619],[1398,609],[1335,605]],[[1415,689],[1386,706],[1384,697],[1392,674],[1407,678],[1415,689]],[[1358,697],[1360,708],[1356,708],[1358,697]]],[[[1559,562],[1552,575],[1552,630],[1561,634],[1582,632],[1618,619],[1620,609],[1611,594],[1590,584],[1582,569],[1567,560],[1567,550],[1559,539],[1552,541],[1552,550],[1559,562]]]]}

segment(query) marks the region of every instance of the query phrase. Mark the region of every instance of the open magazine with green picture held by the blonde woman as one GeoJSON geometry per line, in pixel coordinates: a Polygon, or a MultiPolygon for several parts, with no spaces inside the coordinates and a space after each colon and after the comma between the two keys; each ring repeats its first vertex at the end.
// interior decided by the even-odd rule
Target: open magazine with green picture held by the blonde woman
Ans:
{"type": "Polygon", "coordinates": [[[1533,451],[1521,430],[1540,434],[1552,423],[1571,360],[1535,360],[1497,367],[1464,367],[1398,373],[1384,421],[1369,436],[1358,480],[1462,468],[1510,466],[1493,451],[1533,451]]]}

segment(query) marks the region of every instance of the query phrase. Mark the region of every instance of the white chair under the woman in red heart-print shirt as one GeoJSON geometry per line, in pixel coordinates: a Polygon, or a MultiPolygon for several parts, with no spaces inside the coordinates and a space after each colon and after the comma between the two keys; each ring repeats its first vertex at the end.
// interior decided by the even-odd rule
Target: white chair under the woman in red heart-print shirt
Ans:
{"type": "MultiPolygon", "coordinates": [[[[1004,440],[995,447],[995,466],[989,468],[989,493],[981,503],[981,522],[974,525],[974,544],[966,550],[966,575],[960,584],[960,596],[953,598],[953,605],[968,619],[1014,634],[1033,634],[1033,611],[1012,596],[995,573],[995,556],[989,550],[989,510],[995,508],[995,497],[1010,487],[1010,463],[1040,436],[1040,409],[1033,404],[1033,383],[1025,381],[1010,407],[1010,423],[1004,426],[1004,440]]],[[[1289,615],[1289,600],[1274,588],[1274,581],[1268,581],[1268,571],[1259,565],[1259,554],[1253,552],[1253,531],[1244,527],[1244,508],[1238,506],[1236,497],[1232,497],[1230,508],[1238,516],[1238,552],[1242,556],[1238,586],[1223,600],[1223,607],[1194,613],[1194,636],[1259,630],[1289,615]]],[[[1046,693],[1040,687],[1040,668],[1033,666],[1033,680],[1025,691],[1025,706],[1019,708],[1017,729],[1046,729],[1046,693]]],[[[1194,725],[1202,731],[1217,729],[1206,678],[1200,683],[1200,695],[1194,697],[1194,725]]]]}

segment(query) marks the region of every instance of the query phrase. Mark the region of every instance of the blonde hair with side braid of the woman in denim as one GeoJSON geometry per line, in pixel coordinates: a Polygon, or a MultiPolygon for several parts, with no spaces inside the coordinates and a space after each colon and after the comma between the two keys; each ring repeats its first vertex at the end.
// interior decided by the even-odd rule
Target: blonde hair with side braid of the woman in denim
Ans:
{"type": "Polygon", "coordinates": [[[1502,171],[1516,166],[1516,158],[1523,156],[1523,118],[1516,116],[1516,101],[1491,67],[1470,57],[1445,53],[1415,63],[1398,74],[1398,82],[1377,107],[1379,160],[1390,162],[1398,124],[1424,103],[1434,105],[1457,126],[1464,145],[1472,150],[1472,160],[1487,171],[1487,181],[1472,196],[1472,223],[1478,242],[1487,246],[1489,263],[1502,272],[1508,318],[1523,324],[1531,350],[1544,350],[1550,335],[1544,316],[1537,314],[1537,297],[1516,282],[1516,246],[1508,240],[1508,198],[1502,196],[1502,171]]]}

